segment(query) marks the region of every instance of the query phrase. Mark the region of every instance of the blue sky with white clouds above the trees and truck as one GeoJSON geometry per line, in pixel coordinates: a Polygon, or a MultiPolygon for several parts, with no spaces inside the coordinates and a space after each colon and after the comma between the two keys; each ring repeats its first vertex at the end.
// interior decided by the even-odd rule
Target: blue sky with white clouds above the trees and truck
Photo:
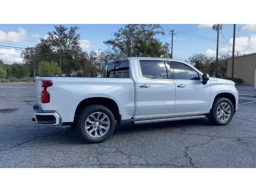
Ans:
{"type": "MultiPolygon", "coordinates": [[[[6,64],[22,62],[20,50],[4,46],[35,46],[48,31],[53,31],[58,24],[0,24],[0,60],[6,64]],[[9,37],[10,36],[10,37],[9,37]],[[15,37],[15,38],[13,38],[15,37]],[[21,40],[22,39],[22,40],[21,40]],[[2,45],[2,46],[1,46],[2,45]]],[[[74,26],[67,25],[66,27],[74,26]]],[[[213,24],[161,24],[165,35],[158,35],[163,43],[171,44],[170,30],[174,29],[173,56],[186,60],[193,54],[216,56],[217,32],[212,30],[213,24]]],[[[114,38],[114,32],[125,24],[77,24],[80,29],[80,44],[84,51],[107,49],[103,41],[114,38]]],[[[222,24],[219,35],[219,55],[232,54],[233,24],[222,24]],[[223,35],[223,36],[222,36],[223,35]],[[229,44],[229,43],[230,44],[229,44]]],[[[236,25],[236,46],[239,54],[256,52],[256,24],[236,25]]]]}

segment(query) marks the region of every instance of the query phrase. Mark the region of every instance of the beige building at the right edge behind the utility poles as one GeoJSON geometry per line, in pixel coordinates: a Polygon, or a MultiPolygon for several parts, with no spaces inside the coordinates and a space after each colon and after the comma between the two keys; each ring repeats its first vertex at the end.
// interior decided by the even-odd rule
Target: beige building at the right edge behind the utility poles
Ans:
{"type": "MultiPolygon", "coordinates": [[[[228,59],[227,76],[231,77],[232,58],[228,59]]],[[[243,84],[254,85],[256,70],[256,53],[246,54],[235,57],[234,77],[241,78],[243,84]]]]}

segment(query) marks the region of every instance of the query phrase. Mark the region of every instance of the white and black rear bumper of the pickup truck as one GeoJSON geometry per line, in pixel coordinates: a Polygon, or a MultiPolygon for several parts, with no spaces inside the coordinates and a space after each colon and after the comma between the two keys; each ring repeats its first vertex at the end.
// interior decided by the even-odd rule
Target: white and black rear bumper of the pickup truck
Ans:
{"type": "Polygon", "coordinates": [[[43,111],[40,106],[36,103],[33,106],[34,118],[40,125],[59,125],[60,116],[54,111],[43,111]]]}

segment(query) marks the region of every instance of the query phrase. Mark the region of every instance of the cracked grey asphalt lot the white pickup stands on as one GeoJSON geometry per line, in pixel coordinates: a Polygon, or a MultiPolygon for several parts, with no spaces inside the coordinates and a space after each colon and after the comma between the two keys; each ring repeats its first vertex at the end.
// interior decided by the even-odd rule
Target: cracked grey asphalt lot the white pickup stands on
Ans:
{"type": "MultiPolygon", "coordinates": [[[[226,126],[207,118],[124,123],[105,142],[85,144],[69,126],[32,122],[33,86],[0,84],[1,168],[256,167],[256,102],[240,105],[226,126]]],[[[239,104],[252,101],[242,98],[239,104]]]]}

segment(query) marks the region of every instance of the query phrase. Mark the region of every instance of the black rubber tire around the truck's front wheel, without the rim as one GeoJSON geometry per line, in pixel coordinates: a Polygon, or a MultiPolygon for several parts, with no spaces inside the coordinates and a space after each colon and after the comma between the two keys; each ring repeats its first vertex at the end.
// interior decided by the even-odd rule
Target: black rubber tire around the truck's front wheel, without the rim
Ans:
{"type": "Polygon", "coordinates": [[[232,120],[233,116],[234,116],[234,106],[233,106],[232,102],[228,98],[225,98],[225,97],[215,98],[213,105],[212,105],[211,115],[210,115],[210,117],[208,117],[210,122],[212,122],[215,125],[226,125],[232,120]],[[221,121],[217,116],[218,106],[221,103],[227,103],[230,106],[230,117],[226,121],[221,121]]]}

